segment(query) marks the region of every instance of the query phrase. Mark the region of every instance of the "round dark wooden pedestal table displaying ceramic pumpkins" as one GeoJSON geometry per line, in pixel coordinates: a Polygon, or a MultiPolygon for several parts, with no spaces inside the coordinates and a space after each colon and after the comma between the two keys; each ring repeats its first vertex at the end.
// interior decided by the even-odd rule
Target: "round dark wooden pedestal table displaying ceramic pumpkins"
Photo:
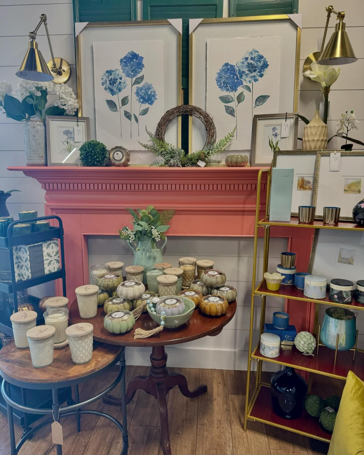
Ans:
{"type": "MultiPolygon", "coordinates": [[[[203,338],[207,335],[218,335],[224,325],[226,325],[233,318],[235,312],[235,300],[229,304],[227,313],[220,317],[207,316],[197,308],[186,324],[183,324],[176,329],[163,329],[151,338],[140,339],[134,339],[135,329],[141,328],[144,330],[152,330],[157,327],[157,324],[151,319],[148,313],[142,313],[142,315],[136,320],[136,324],[131,331],[122,335],[110,334],[104,328],[105,313],[102,307],[98,308],[95,318],[87,319],[87,322],[90,322],[94,326],[94,339],[97,341],[121,346],[152,347],[152,354],[150,357],[152,366],[150,373],[147,376],[136,376],[131,379],[126,391],[126,403],[129,403],[133,399],[137,389],[144,390],[147,394],[153,395],[154,398],[158,400],[162,429],[162,449],[164,455],[172,455],[169,441],[166,400],[168,391],[178,385],[182,394],[187,398],[197,397],[207,391],[206,385],[201,385],[196,390],[190,391],[188,389],[187,379],[183,374],[168,373],[165,346],[170,344],[186,343],[187,341],[203,338]]],[[[72,324],[85,321],[80,317],[76,300],[72,303],[70,308],[70,319],[72,324]]],[[[104,402],[107,404],[121,405],[121,400],[115,399],[110,395],[104,398],[104,402]]]]}

